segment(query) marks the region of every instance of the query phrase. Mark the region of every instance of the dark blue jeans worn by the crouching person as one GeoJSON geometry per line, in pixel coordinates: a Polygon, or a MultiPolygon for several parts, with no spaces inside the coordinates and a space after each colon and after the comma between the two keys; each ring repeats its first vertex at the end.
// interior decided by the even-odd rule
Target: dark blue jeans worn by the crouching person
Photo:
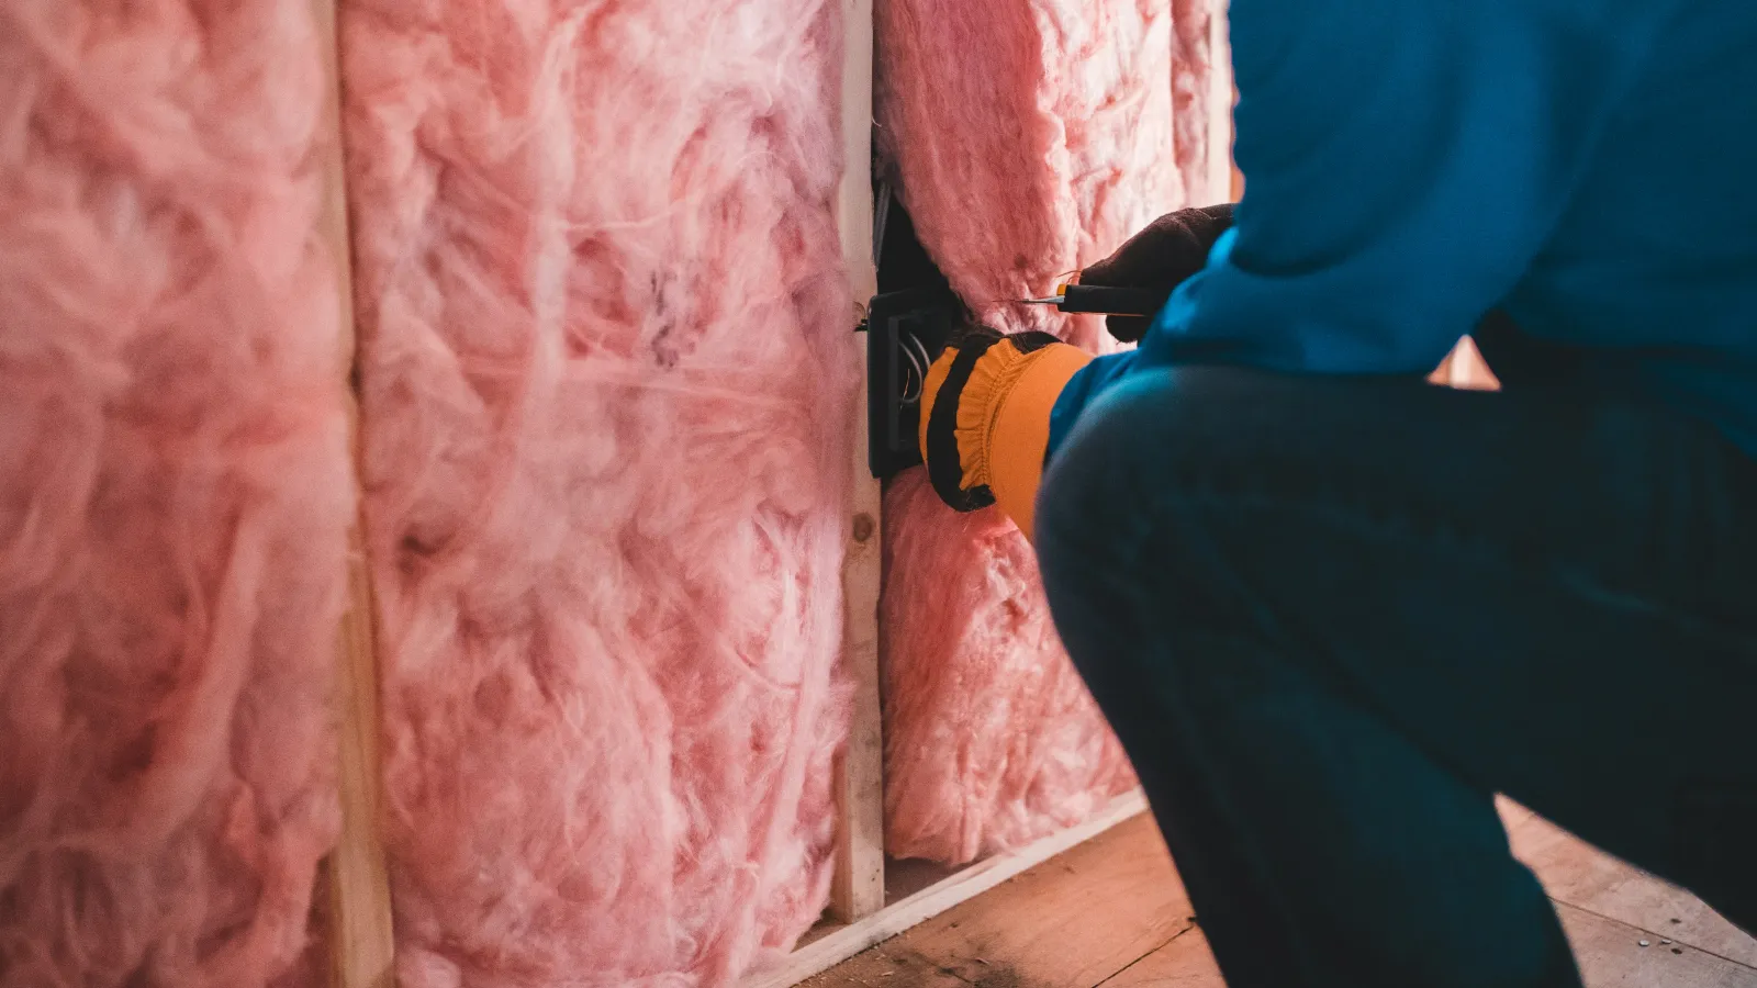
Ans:
{"type": "Polygon", "coordinates": [[[1233,988],[1578,986],[1495,793],[1757,923],[1757,461],[1713,429],[1140,373],[1037,541],[1233,988]]]}

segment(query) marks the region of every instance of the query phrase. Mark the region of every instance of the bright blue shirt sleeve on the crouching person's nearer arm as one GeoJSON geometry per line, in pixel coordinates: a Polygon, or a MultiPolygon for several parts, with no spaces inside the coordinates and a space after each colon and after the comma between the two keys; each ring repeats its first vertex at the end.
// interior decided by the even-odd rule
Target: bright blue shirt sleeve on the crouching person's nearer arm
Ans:
{"type": "Polygon", "coordinates": [[[1167,364],[1427,374],[1522,278],[1634,84],[1659,0],[1233,0],[1235,225],[1054,450],[1167,364]]]}

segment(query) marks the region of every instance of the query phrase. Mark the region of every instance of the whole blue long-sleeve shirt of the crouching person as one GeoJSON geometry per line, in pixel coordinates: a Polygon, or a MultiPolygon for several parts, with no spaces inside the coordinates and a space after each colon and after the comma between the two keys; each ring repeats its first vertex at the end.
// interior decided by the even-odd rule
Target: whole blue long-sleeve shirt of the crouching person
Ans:
{"type": "Polygon", "coordinates": [[[1757,454],[1757,0],[1233,0],[1246,193],[1095,396],[1167,364],[1657,396],[1757,454]],[[1541,355],[1541,359],[1539,359],[1541,355]]]}

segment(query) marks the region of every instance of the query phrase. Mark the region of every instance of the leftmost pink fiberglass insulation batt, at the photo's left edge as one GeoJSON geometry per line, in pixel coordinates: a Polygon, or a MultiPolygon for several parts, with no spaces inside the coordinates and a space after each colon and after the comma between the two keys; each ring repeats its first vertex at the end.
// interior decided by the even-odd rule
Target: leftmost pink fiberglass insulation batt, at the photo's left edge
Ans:
{"type": "Polygon", "coordinates": [[[307,0],[0,5],[0,984],[316,983],[353,487],[307,0]]]}

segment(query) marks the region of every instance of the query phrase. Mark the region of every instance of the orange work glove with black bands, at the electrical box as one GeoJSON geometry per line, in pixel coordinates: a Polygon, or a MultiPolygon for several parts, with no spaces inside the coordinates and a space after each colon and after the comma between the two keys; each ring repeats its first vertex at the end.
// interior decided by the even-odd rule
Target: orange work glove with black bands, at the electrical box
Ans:
{"type": "Polygon", "coordinates": [[[940,499],[958,512],[1000,505],[1031,538],[1049,411],[1088,360],[1047,332],[972,325],[952,339],[921,396],[921,457],[940,499]]]}

